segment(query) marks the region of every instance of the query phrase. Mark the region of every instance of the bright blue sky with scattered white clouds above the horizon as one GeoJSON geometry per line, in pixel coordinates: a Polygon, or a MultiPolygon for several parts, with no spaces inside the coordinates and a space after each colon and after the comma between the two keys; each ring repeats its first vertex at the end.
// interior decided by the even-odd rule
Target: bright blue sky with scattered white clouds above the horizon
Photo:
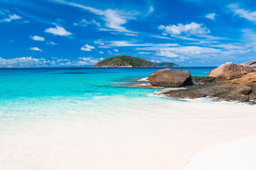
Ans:
{"type": "Polygon", "coordinates": [[[0,67],[255,60],[255,1],[0,0],[0,67]]]}

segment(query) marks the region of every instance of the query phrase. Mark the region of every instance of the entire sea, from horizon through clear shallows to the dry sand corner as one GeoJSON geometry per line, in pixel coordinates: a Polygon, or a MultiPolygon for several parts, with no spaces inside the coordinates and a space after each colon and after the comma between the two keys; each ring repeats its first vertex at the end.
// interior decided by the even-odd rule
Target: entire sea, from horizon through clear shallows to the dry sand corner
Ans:
{"type": "Polygon", "coordinates": [[[255,106],[124,86],[161,69],[0,69],[0,169],[182,169],[191,153],[256,134],[255,106]]]}

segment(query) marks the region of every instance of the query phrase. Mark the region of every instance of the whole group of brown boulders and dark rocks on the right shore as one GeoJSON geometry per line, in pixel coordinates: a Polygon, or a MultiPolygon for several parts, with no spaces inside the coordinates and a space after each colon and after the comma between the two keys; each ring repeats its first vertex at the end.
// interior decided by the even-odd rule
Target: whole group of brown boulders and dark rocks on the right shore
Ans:
{"type": "Polygon", "coordinates": [[[162,94],[168,97],[213,97],[256,104],[256,60],[222,64],[212,70],[209,77],[191,77],[189,71],[182,70],[159,70],[149,75],[148,82],[154,87],[183,87],[164,90],[162,94]]]}

